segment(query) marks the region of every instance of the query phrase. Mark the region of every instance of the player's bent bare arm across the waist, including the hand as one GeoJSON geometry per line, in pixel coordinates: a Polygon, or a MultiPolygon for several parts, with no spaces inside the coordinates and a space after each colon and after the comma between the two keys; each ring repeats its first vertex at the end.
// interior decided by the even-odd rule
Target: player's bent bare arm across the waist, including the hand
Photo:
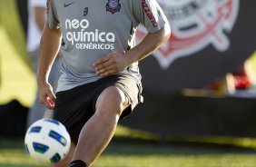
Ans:
{"type": "Polygon", "coordinates": [[[146,34],[140,44],[137,44],[126,53],[116,52],[107,54],[94,63],[96,74],[107,76],[122,72],[130,64],[138,62],[152,54],[170,35],[170,26],[166,24],[159,31],[146,34]]]}

